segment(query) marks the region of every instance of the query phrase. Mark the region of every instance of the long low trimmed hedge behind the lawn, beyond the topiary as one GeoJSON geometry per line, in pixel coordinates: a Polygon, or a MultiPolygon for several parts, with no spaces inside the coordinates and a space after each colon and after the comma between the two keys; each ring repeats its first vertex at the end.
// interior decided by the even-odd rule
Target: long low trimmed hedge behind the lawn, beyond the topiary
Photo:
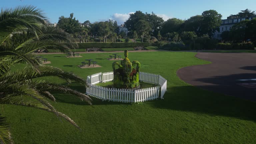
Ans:
{"type": "Polygon", "coordinates": [[[126,48],[146,47],[149,43],[78,43],[79,48],[126,48]]]}

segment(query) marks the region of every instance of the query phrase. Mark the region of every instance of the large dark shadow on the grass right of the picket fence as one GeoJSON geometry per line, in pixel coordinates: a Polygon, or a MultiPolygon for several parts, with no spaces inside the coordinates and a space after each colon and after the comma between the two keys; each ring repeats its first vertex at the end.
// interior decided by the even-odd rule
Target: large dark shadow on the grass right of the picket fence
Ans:
{"type": "Polygon", "coordinates": [[[256,103],[194,86],[167,89],[164,100],[146,102],[152,107],[177,111],[208,114],[212,117],[226,116],[256,121],[256,103]]]}

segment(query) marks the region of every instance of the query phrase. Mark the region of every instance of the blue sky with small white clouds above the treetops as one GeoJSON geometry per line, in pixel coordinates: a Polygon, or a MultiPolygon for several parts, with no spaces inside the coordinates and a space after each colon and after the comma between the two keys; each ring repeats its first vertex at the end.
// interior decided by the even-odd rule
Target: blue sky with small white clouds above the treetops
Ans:
{"type": "Polygon", "coordinates": [[[223,19],[246,8],[256,10],[255,0],[1,0],[0,3],[1,8],[18,5],[37,6],[52,23],[57,23],[62,15],[69,17],[72,12],[80,22],[112,19],[122,24],[129,18],[129,13],[137,10],[153,11],[164,20],[172,17],[188,19],[210,9],[221,13],[223,19]]]}

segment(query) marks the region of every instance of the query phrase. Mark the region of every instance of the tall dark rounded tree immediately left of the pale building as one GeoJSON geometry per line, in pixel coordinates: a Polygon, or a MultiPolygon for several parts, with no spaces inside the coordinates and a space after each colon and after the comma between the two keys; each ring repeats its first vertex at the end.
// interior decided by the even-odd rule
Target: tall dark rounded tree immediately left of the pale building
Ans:
{"type": "Polygon", "coordinates": [[[202,13],[202,16],[202,33],[211,37],[216,31],[219,31],[222,15],[215,10],[207,10],[202,13]]]}

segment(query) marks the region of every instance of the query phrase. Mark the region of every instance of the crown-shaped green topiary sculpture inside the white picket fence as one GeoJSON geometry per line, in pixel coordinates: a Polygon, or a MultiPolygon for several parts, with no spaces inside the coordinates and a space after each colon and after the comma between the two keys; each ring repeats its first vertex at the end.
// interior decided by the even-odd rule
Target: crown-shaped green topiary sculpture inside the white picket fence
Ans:
{"type": "Polygon", "coordinates": [[[125,59],[119,62],[113,62],[112,68],[114,72],[114,87],[115,88],[136,88],[140,86],[139,71],[140,63],[128,59],[128,51],[124,51],[125,59]]]}

